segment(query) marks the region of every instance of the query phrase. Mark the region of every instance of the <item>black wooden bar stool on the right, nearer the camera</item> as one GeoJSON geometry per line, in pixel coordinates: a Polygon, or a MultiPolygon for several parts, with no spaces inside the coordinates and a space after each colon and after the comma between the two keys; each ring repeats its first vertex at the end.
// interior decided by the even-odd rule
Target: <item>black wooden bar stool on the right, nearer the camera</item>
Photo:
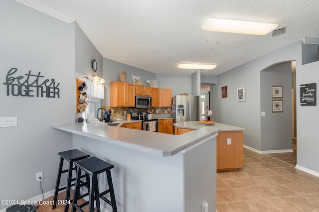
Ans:
{"type": "Polygon", "coordinates": [[[94,202],[96,202],[96,209],[97,212],[100,212],[100,198],[107,202],[110,206],[112,206],[113,212],[117,212],[112,177],[111,177],[111,169],[114,168],[114,165],[105,162],[97,157],[90,157],[83,160],[78,160],[74,162],[75,166],[77,167],[76,170],[76,180],[75,180],[75,188],[74,188],[74,197],[73,197],[73,206],[72,212],[76,210],[82,211],[82,207],[89,205],[89,212],[94,211],[94,202]],[[81,171],[84,171],[86,174],[89,174],[90,177],[90,186],[89,186],[89,201],[77,205],[77,201],[83,198],[84,195],[79,195],[79,190],[83,186],[80,183],[80,174],[81,171]],[[98,186],[98,178],[97,175],[100,173],[106,172],[107,181],[109,189],[106,191],[99,193],[99,186],[98,186]],[[111,200],[104,197],[104,195],[110,193],[111,200]]]}

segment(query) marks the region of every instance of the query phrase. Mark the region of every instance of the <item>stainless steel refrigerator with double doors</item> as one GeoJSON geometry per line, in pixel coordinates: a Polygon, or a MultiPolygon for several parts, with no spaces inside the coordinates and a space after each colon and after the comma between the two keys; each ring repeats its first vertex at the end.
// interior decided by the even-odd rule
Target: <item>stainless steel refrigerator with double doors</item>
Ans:
{"type": "Polygon", "coordinates": [[[174,123],[200,120],[199,96],[175,96],[172,98],[171,116],[174,123]]]}

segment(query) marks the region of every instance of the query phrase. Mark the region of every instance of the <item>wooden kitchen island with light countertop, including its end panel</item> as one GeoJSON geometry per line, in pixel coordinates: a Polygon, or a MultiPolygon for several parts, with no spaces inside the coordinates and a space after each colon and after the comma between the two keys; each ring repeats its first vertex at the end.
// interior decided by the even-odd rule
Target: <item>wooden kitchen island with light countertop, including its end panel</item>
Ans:
{"type": "MultiPolygon", "coordinates": [[[[203,127],[198,121],[175,123],[175,134],[180,135],[203,127]],[[176,132],[177,131],[177,132],[176,132]]],[[[221,131],[217,135],[216,167],[217,171],[237,170],[244,167],[244,128],[221,123],[206,127],[218,127],[221,131]]]]}

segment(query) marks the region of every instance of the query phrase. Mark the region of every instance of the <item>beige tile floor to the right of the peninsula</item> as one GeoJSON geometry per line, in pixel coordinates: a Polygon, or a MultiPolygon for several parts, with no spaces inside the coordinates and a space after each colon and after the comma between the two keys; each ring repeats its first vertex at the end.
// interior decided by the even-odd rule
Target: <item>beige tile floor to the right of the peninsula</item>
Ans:
{"type": "Polygon", "coordinates": [[[244,168],[217,173],[217,212],[319,212],[319,178],[296,160],[244,148],[244,168]]]}

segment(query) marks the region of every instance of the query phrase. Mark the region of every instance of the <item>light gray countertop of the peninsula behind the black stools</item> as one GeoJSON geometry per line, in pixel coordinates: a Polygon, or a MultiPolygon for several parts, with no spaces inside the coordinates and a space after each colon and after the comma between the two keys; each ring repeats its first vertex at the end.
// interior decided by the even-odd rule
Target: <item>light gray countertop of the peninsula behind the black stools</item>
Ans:
{"type": "MultiPolygon", "coordinates": [[[[138,120],[131,120],[137,122],[138,120]]],[[[116,123],[117,121],[115,121],[116,123]]],[[[123,120],[124,122],[124,120],[123,120]]],[[[125,123],[128,121],[125,120],[125,123]]],[[[198,121],[197,121],[198,122],[198,121]]],[[[189,123],[194,128],[195,123],[189,123]]],[[[185,123],[184,126],[187,124],[185,123]]],[[[68,123],[53,124],[55,129],[99,139],[120,146],[148,152],[160,156],[172,156],[191,147],[205,138],[220,131],[217,126],[202,126],[197,124],[197,130],[182,134],[172,135],[159,132],[129,129],[124,127],[108,126],[106,123],[68,123]]],[[[234,130],[236,127],[233,127],[234,130]]],[[[241,128],[242,129],[242,128],[241,128]]],[[[89,142],[89,140],[88,140],[89,142]]]]}

